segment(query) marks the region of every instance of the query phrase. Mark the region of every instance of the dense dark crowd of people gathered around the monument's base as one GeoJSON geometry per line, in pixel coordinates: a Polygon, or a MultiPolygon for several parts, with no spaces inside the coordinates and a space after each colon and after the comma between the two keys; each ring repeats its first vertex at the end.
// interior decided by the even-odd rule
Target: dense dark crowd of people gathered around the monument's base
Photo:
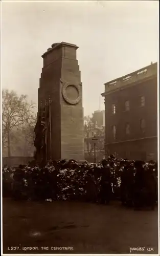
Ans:
{"type": "Polygon", "coordinates": [[[82,200],[154,209],[157,201],[157,162],[117,159],[102,163],[54,161],[3,169],[3,196],[16,200],[82,200]]]}

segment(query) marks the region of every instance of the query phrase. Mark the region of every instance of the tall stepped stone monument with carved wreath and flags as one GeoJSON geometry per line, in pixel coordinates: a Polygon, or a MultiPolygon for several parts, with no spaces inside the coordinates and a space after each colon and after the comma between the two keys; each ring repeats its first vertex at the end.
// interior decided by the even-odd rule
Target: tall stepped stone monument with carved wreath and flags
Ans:
{"type": "Polygon", "coordinates": [[[56,43],[42,55],[35,127],[36,158],[84,160],[82,83],[78,47],[56,43]]]}

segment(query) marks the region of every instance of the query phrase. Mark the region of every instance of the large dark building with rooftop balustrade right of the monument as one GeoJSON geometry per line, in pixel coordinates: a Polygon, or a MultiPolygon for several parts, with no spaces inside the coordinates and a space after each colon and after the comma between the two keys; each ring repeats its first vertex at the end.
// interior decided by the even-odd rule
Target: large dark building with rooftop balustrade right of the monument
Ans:
{"type": "Polygon", "coordinates": [[[105,83],[105,153],[157,159],[157,62],[105,83]]]}

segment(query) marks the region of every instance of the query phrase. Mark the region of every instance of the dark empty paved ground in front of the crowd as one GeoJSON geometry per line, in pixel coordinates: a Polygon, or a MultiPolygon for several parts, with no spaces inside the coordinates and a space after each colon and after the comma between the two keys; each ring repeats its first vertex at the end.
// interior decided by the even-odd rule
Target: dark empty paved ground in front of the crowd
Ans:
{"type": "Polygon", "coordinates": [[[157,227],[157,209],[134,211],[119,202],[3,200],[4,253],[129,253],[130,247],[145,247],[132,253],[151,253],[147,247],[158,253],[157,227]]]}

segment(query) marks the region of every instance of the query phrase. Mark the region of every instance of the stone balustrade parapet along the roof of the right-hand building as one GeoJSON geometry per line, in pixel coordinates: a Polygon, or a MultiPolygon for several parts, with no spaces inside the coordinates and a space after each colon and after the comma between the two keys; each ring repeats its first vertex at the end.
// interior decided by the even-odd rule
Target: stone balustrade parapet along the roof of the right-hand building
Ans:
{"type": "MultiPolygon", "coordinates": [[[[143,80],[147,77],[152,77],[154,75],[157,75],[157,62],[145,68],[136,70],[135,72],[132,72],[130,74],[127,74],[125,76],[119,77],[115,80],[111,80],[105,83],[105,92],[115,90],[119,87],[126,86],[127,84],[130,84],[132,82],[143,80]]],[[[102,96],[104,95],[102,94],[102,96]]]]}

